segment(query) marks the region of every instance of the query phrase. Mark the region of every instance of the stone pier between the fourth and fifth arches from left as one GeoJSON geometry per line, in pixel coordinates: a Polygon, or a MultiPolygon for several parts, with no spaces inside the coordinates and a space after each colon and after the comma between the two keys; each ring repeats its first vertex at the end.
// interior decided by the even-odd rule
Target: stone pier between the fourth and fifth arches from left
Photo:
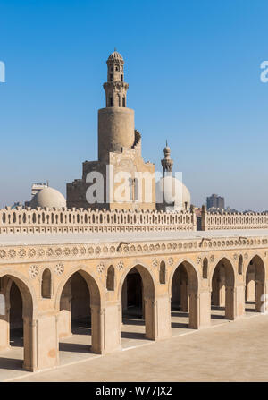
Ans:
{"type": "Polygon", "coordinates": [[[205,288],[199,293],[194,290],[189,293],[188,327],[193,329],[206,328],[211,323],[211,292],[205,288]]]}

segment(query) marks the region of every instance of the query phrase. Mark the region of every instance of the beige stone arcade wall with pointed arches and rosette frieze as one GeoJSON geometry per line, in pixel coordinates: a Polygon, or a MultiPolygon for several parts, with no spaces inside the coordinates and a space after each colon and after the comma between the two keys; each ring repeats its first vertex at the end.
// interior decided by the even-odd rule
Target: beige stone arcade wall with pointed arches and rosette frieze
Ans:
{"type": "Polygon", "coordinates": [[[267,231],[247,233],[246,242],[231,232],[226,237],[207,233],[207,239],[211,236],[208,242],[195,232],[189,232],[187,238],[172,234],[172,240],[156,240],[154,234],[145,234],[140,241],[132,234],[127,244],[106,242],[102,234],[95,243],[87,234],[81,243],[71,243],[72,234],[45,234],[46,244],[35,244],[36,235],[22,235],[27,245],[18,244],[18,234],[4,234],[9,243],[0,249],[5,302],[4,315],[0,316],[0,348],[9,346],[13,310],[13,314],[21,312],[17,319],[23,321],[27,370],[58,365],[59,342],[71,335],[73,312],[91,320],[88,352],[120,350],[122,312],[128,308],[125,299],[133,296],[128,291],[134,290],[130,285],[124,287],[124,282],[131,274],[140,278],[139,284],[136,281],[142,287],[139,305],[145,336],[151,340],[171,336],[172,305],[188,312],[189,328],[210,324],[211,299],[214,305],[225,308],[227,319],[243,316],[246,299],[254,301],[255,310],[261,311],[261,296],[267,291],[267,231]],[[71,277],[77,281],[76,288],[71,277]],[[18,295],[12,292],[13,284],[21,294],[21,307],[18,295]],[[83,287],[88,296],[83,297],[83,287]],[[75,308],[71,306],[73,299],[78,299],[75,308]]]}

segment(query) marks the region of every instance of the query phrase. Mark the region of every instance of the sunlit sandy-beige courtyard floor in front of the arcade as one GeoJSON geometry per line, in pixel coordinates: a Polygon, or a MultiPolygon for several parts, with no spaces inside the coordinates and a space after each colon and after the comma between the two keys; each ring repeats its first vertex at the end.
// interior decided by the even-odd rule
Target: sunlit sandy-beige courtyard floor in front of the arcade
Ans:
{"type": "Polygon", "coordinates": [[[21,369],[18,340],[0,353],[0,381],[267,381],[268,315],[252,308],[234,322],[213,310],[212,327],[201,330],[183,325],[187,314],[172,312],[172,338],[160,342],[144,338],[142,320],[125,319],[123,351],[105,356],[88,353],[83,329],[90,328],[78,327],[61,341],[61,366],[36,373],[21,369]]]}

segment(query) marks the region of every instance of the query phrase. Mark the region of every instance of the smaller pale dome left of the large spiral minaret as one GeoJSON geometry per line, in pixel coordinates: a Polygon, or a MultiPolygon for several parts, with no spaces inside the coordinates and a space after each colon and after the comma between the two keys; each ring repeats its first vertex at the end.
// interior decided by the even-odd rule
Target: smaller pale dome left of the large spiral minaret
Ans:
{"type": "Polygon", "coordinates": [[[32,198],[30,201],[30,207],[32,209],[37,209],[41,207],[42,209],[62,209],[66,207],[66,200],[60,191],[56,191],[53,188],[45,188],[32,198]]]}

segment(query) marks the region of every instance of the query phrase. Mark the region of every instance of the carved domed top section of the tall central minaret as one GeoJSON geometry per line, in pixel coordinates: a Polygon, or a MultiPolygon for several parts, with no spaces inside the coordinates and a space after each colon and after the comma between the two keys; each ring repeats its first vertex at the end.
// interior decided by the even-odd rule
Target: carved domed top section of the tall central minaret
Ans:
{"type": "Polygon", "coordinates": [[[107,81],[104,83],[106,107],[126,107],[129,84],[124,82],[124,60],[116,49],[109,55],[107,81]]]}

